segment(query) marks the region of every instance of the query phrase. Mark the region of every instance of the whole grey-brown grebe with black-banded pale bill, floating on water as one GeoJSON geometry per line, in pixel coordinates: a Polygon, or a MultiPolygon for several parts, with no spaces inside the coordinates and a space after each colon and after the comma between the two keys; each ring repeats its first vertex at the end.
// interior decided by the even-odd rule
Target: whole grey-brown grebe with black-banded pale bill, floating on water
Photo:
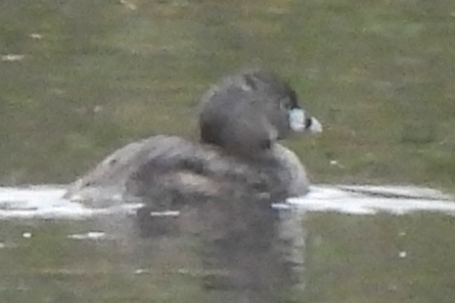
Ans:
{"type": "Polygon", "coordinates": [[[253,70],[222,80],[202,97],[199,125],[200,143],[154,136],[113,152],[66,197],[96,207],[134,200],[172,210],[204,197],[275,203],[308,191],[300,161],[277,140],[320,132],[321,125],[274,74],[253,70]]]}

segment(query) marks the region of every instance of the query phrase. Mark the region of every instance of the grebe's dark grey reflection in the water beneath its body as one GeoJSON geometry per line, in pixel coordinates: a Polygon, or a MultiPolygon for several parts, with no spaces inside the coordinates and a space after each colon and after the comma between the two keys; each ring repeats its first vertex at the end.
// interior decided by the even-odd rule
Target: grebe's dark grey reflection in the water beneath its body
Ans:
{"type": "Polygon", "coordinates": [[[157,237],[193,239],[189,248],[201,264],[199,283],[212,302],[279,302],[300,282],[301,214],[274,209],[268,199],[224,202],[208,201],[179,217],[150,215],[143,208],[139,229],[151,242],[157,237]]]}

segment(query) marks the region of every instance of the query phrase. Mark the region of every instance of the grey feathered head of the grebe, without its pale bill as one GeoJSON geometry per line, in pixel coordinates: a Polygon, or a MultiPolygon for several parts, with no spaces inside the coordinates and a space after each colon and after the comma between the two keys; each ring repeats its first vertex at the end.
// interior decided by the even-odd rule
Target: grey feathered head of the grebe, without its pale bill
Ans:
{"type": "Polygon", "coordinates": [[[293,108],[298,108],[295,91],[275,74],[252,70],[229,76],[201,100],[201,140],[257,154],[289,135],[293,108]]]}

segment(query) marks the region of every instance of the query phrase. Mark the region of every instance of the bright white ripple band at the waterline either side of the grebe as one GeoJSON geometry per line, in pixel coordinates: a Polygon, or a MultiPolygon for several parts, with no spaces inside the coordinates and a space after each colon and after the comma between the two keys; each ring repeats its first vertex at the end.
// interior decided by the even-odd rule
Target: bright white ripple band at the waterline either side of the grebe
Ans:
{"type": "MultiPolygon", "coordinates": [[[[0,219],[85,219],[112,213],[131,213],[140,204],[94,209],[64,198],[63,185],[0,187],[0,219]]],[[[297,207],[309,212],[405,214],[415,211],[455,213],[454,199],[439,190],[414,186],[314,185],[302,198],[276,207],[297,207]]]]}

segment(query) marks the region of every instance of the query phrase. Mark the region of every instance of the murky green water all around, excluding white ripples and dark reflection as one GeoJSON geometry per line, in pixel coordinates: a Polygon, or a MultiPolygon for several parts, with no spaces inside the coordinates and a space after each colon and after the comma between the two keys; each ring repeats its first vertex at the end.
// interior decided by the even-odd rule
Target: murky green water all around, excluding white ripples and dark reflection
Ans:
{"type": "MultiPolygon", "coordinates": [[[[284,142],[314,183],[455,193],[454,0],[0,0],[0,185],[72,182],[154,134],[196,140],[202,93],[251,67],[322,121],[284,142]]],[[[188,250],[89,239],[97,224],[0,220],[0,301],[215,302],[188,250]]],[[[306,291],[283,302],[454,301],[452,215],[304,227],[306,291]]]]}

